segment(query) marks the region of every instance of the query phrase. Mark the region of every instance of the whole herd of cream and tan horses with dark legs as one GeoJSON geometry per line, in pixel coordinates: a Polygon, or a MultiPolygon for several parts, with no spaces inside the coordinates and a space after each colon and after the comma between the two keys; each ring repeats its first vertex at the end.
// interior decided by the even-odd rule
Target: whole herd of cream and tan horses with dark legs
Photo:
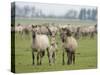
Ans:
{"type": "Polygon", "coordinates": [[[47,52],[48,62],[50,65],[56,61],[57,39],[60,36],[62,46],[62,64],[65,64],[65,53],[67,54],[67,64],[75,64],[75,53],[78,47],[77,40],[80,38],[90,37],[94,38],[97,34],[97,25],[13,25],[11,24],[11,32],[19,33],[22,38],[23,35],[31,34],[32,38],[32,64],[35,65],[35,58],[37,65],[42,64],[42,59],[47,52]],[[31,33],[30,33],[31,32],[31,33]],[[36,55],[35,55],[36,53],[36,55]]]}

